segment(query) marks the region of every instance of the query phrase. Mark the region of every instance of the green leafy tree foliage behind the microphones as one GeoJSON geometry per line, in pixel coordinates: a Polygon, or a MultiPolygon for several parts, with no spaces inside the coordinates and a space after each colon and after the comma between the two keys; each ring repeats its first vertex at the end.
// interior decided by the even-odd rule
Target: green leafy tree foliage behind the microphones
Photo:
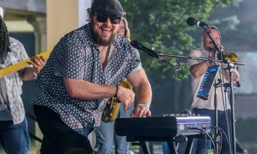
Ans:
{"type": "MultiPolygon", "coordinates": [[[[188,26],[187,18],[207,19],[214,6],[228,6],[234,0],[120,0],[127,12],[127,20],[133,39],[156,51],[169,54],[183,54],[181,50],[191,50],[194,39],[187,34],[196,26],[188,26]]],[[[174,77],[174,69],[168,64],[140,52],[143,67],[148,73],[165,73],[174,77]]],[[[175,58],[170,59],[176,64],[175,58]]],[[[179,60],[181,61],[181,60],[179,60]]],[[[178,74],[189,71],[182,63],[178,74]]],[[[181,76],[181,75],[179,75],[181,76]]],[[[165,75],[164,75],[165,77],[165,75]]]]}

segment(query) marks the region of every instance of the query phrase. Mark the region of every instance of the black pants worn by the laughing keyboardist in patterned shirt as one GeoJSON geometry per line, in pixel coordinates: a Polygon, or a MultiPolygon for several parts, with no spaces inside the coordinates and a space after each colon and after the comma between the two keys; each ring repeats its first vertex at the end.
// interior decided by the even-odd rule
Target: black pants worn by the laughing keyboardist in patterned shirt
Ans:
{"type": "Polygon", "coordinates": [[[44,106],[33,108],[44,135],[41,154],[93,154],[88,138],[70,129],[58,113],[44,106]]]}

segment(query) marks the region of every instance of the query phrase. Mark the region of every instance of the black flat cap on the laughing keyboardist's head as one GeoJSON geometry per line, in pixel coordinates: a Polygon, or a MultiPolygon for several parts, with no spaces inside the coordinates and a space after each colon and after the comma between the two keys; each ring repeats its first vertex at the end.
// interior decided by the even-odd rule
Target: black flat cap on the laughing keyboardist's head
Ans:
{"type": "Polygon", "coordinates": [[[118,0],[93,0],[91,10],[107,15],[124,15],[124,11],[118,0]]]}

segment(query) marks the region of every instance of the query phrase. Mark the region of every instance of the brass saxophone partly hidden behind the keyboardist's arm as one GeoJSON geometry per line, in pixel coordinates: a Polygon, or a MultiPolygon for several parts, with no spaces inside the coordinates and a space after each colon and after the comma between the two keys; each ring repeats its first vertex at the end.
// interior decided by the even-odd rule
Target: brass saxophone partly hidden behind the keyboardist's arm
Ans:
{"type": "MultiPolygon", "coordinates": [[[[128,82],[128,80],[125,78],[119,86],[132,89],[132,85],[128,82]]],[[[102,120],[104,122],[113,122],[118,116],[118,111],[120,107],[120,102],[118,101],[117,97],[112,97],[110,99],[110,103],[106,103],[106,106],[103,110],[102,120]]]]}

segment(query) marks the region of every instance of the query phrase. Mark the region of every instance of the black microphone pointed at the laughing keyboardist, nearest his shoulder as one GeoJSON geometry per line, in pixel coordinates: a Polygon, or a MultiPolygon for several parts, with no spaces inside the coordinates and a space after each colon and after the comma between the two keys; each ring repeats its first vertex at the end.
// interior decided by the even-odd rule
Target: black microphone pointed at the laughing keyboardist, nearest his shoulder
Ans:
{"type": "Polygon", "coordinates": [[[158,53],[154,52],[153,50],[145,47],[143,44],[140,43],[140,41],[138,40],[133,40],[130,43],[133,47],[135,47],[136,49],[142,50],[144,52],[146,52],[149,56],[155,57],[160,61],[163,62],[167,62],[163,57],[161,57],[158,53]]]}

